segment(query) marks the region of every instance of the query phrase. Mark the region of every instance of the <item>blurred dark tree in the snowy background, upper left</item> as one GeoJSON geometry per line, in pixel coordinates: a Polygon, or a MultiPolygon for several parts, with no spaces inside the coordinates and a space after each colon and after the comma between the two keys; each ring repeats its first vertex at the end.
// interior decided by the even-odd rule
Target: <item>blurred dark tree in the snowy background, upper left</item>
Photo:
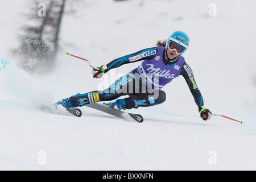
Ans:
{"type": "Polygon", "coordinates": [[[20,35],[20,45],[14,50],[19,57],[19,66],[26,71],[39,73],[51,71],[53,68],[59,48],[65,1],[33,1],[32,14],[28,16],[26,27],[20,35]]]}

